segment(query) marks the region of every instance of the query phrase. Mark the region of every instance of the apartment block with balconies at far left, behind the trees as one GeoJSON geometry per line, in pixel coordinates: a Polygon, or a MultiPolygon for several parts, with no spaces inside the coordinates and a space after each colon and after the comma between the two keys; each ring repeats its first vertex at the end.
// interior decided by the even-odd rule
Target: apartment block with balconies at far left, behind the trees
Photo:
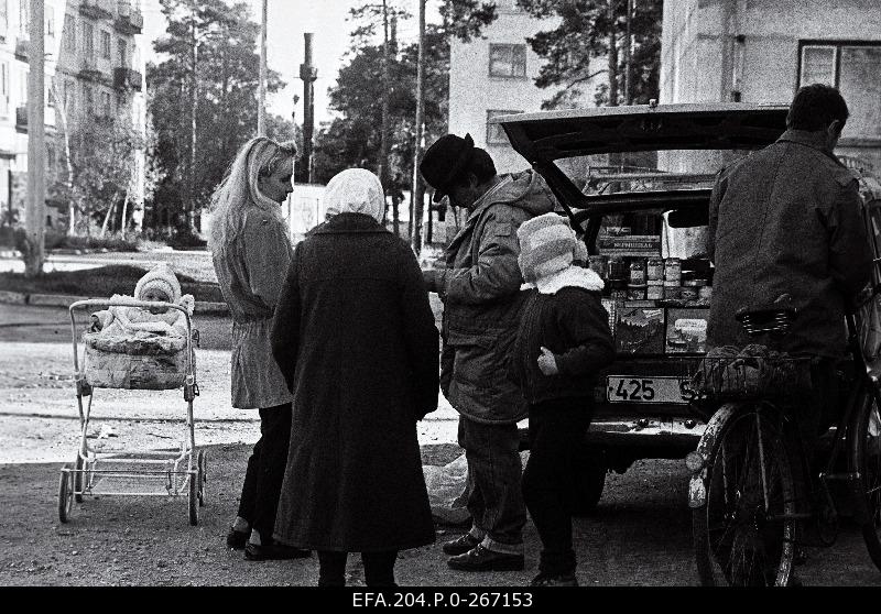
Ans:
{"type": "MultiPolygon", "coordinates": [[[[65,134],[128,117],[145,135],[143,15],[138,0],[45,0],[46,177],[66,173],[65,134]]],[[[0,0],[0,202],[24,218],[28,171],[30,0],[0,0]]],[[[74,144],[72,144],[73,146],[74,144]]],[[[129,207],[140,228],[144,152],[137,152],[129,207]]],[[[47,202],[47,224],[66,202],[47,202]]]]}

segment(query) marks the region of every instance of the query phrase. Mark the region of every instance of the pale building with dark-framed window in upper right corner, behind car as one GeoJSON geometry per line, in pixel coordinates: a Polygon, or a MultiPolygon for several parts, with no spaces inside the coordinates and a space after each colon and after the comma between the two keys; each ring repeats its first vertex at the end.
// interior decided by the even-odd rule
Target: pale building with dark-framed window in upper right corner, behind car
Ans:
{"type": "Polygon", "coordinates": [[[661,102],[788,105],[836,86],[850,119],[836,153],[881,175],[879,0],[664,0],[661,102]]]}

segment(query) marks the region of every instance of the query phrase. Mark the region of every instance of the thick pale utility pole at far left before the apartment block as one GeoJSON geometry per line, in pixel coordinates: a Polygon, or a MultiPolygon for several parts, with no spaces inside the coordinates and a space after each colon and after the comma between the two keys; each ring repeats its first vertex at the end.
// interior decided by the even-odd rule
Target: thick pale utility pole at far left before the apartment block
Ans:
{"type": "Polygon", "coordinates": [[[43,124],[45,109],[43,42],[43,0],[31,0],[30,48],[28,65],[28,211],[25,230],[28,249],[24,254],[24,274],[36,277],[43,273],[46,229],[46,150],[43,124]]]}

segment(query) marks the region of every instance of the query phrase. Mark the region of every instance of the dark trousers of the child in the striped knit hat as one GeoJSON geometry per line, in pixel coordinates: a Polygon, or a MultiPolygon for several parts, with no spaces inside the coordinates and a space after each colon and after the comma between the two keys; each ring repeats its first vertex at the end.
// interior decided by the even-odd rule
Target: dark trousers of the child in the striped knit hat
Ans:
{"type": "Polygon", "coordinates": [[[523,498],[542,540],[539,571],[575,573],[572,545],[573,484],[590,425],[592,399],[554,398],[530,405],[530,459],[523,471],[523,498]]]}

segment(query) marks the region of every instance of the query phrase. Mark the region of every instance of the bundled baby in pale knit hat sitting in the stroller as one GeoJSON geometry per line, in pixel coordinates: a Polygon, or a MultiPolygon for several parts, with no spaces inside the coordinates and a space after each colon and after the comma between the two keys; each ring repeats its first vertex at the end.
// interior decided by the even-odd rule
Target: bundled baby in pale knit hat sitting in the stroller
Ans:
{"type": "MultiPolygon", "coordinates": [[[[193,314],[194,299],[189,294],[181,295],[181,283],[165,263],[157,264],[138,281],[134,296],[115,294],[111,300],[173,303],[193,314]]],[[[180,309],[134,306],[112,306],[91,315],[90,332],[101,331],[101,337],[145,338],[151,335],[186,338],[186,316],[180,309]]]]}

